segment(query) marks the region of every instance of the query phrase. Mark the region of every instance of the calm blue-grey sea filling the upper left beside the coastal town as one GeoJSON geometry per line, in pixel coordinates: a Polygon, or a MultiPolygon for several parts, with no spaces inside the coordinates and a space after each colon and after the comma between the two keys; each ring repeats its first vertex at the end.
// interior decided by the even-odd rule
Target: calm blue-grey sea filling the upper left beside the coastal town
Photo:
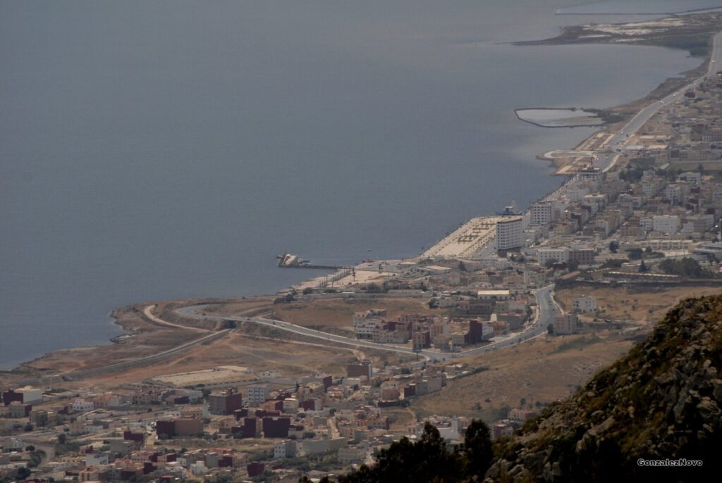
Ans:
{"type": "MultiPolygon", "coordinates": [[[[560,180],[608,107],[699,63],[516,47],[565,0],[0,3],[0,367],[108,342],[127,303],[272,293],[277,269],[417,254],[560,180]]],[[[629,17],[638,18],[638,17],[629,17]]],[[[619,17],[615,17],[619,21],[619,17]]]]}

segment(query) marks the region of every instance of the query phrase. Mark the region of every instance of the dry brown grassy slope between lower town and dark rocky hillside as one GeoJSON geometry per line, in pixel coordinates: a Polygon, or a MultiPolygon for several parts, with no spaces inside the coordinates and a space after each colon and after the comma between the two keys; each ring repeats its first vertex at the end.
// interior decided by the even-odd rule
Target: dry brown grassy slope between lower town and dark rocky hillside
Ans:
{"type": "Polygon", "coordinates": [[[491,422],[505,417],[505,407],[519,407],[521,398],[535,407],[570,395],[630,347],[617,332],[544,336],[465,360],[471,368],[488,369],[449,381],[442,391],[415,399],[411,409],[419,416],[455,414],[491,422]]]}

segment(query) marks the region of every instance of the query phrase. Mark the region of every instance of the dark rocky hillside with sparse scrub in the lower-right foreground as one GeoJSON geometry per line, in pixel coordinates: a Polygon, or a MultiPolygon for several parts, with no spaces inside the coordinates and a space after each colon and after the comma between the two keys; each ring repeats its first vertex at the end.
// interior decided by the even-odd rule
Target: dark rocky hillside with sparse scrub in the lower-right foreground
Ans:
{"type": "Polygon", "coordinates": [[[625,358],[501,443],[486,480],[719,481],[721,370],[722,296],[683,301],[625,358]],[[702,466],[647,464],[668,458],[702,466]]]}

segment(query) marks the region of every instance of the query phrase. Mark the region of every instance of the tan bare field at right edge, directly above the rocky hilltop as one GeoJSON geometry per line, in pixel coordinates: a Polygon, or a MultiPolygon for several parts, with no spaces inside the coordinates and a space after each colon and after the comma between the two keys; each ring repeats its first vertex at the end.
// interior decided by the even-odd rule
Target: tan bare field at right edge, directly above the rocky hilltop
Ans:
{"type": "MultiPolygon", "coordinates": [[[[640,291],[635,288],[563,288],[555,291],[554,298],[563,309],[569,310],[572,299],[583,295],[596,298],[601,311],[600,319],[636,320],[653,323],[661,319],[666,311],[677,302],[688,297],[721,293],[721,287],[676,287],[640,291]]],[[[591,315],[593,317],[595,315],[591,315]]]]}

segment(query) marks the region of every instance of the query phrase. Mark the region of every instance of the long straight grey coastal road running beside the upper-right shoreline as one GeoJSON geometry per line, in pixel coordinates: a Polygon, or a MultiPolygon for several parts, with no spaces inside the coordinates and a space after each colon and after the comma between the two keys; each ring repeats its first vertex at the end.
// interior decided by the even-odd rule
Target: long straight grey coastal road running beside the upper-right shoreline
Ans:
{"type": "Polygon", "coordinates": [[[617,163],[617,159],[619,159],[619,152],[624,149],[627,140],[632,134],[637,133],[637,131],[663,107],[677,100],[677,98],[684,95],[684,92],[687,92],[687,90],[697,87],[706,77],[716,75],[720,70],[722,70],[722,32],[719,32],[713,37],[712,53],[710,53],[710,62],[705,75],[695,79],[695,81],[682,87],[682,89],[678,89],[667,97],[654,101],[643,110],[640,110],[618,133],[614,134],[612,138],[609,138],[609,141],[605,144],[606,151],[599,154],[599,164],[597,164],[596,167],[599,167],[599,169],[604,172],[612,169],[614,164],[617,163]]]}

